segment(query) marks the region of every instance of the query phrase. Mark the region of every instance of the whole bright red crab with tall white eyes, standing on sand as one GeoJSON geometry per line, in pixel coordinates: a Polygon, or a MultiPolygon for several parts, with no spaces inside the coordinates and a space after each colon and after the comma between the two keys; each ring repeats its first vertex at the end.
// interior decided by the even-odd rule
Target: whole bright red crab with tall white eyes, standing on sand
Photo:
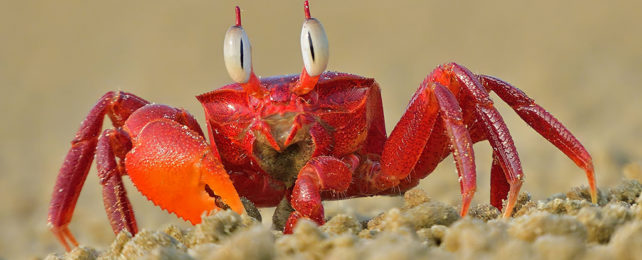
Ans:
{"type": "Polygon", "coordinates": [[[304,10],[303,71],[259,79],[237,7],[224,45],[236,83],[197,97],[209,144],[183,109],[120,91],[100,98],[72,141],[49,208],[50,228],[67,250],[68,241],[77,245],[67,226],[94,156],[116,233],[137,232],[124,175],[154,204],[193,224],[221,208],[242,213],[245,197],[258,207],[276,206],[275,226],[289,233],[300,218],[323,224],[322,200],[401,194],[450,153],[463,216],[476,188],[472,145],[485,140],[493,148],[490,201],[501,209],[507,199],[504,216],[510,216],[524,173],[491,91],[586,171],[595,203],[592,159],[580,142],[519,89],[456,63],[428,75],[387,137],[379,85],[324,72],[325,31],[310,17],[307,1],[304,10]],[[100,134],[105,115],[114,128],[100,134]]]}

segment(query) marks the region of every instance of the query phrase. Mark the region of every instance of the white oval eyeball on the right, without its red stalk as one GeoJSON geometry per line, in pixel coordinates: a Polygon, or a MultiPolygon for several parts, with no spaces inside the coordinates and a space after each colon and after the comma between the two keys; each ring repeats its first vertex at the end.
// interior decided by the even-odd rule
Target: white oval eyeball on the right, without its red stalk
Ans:
{"type": "Polygon", "coordinates": [[[301,30],[301,55],[303,65],[310,76],[318,76],[328,66],[328,36],[319,20],[310,18],[303,22],[301,30]]]}

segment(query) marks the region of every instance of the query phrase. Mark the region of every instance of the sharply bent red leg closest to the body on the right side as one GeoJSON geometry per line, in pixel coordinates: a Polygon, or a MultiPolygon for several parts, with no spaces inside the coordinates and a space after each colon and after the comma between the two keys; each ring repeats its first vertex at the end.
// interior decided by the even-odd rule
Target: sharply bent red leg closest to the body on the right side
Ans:
{"type": "MultiPolygon", "coordinates": [[[[460,214],[465,216],[477,185],[473,143],[455,96],[446,87],[429,81],[428,78],[415,93],[406,113],[386,141],[381,171],[372,177],[372,185],[379,189],[390,188],[408,176],[418,160],[424,158],[423,153],[430,149],[426,144],[431,135],[442,134],[433,132],[435,120],[443,120],[445,136],[450,143],[459,175],[462,194],[460,214]]],[[[441,153],[436,153],[424,159],[441,161],[441,156],[441,153]]]]}

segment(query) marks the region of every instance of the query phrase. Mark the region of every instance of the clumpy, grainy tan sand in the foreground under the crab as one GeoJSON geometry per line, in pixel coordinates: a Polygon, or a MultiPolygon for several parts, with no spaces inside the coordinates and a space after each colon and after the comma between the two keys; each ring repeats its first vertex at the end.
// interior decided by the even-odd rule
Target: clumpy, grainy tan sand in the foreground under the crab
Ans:
{"type": "Polygon", "coordinates": [[[488,204],[460,218],[455,207],[413,189],[403,207],[367,222],[339,214],[321,227],[300,221],[283,235],[223,211],[188,230],[122,232],[107,250],[79,247],[46,259],[639,259],[640,193],[637,180],[601,190],[598,205],[585,187],[542,201],[524,193],[513,218],[503,219],[488,204]]]}

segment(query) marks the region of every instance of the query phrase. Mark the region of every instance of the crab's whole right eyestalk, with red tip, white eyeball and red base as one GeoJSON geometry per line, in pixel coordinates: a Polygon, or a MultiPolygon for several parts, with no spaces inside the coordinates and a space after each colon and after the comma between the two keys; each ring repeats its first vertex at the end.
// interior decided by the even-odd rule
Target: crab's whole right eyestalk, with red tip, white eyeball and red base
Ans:
{"type": "Polygon", "coordinates": [[[301,55],[303,56],[303,71],[299,81],[292,89],[297,95],[305,95],[312,91],[319,81],[319,76],[328,66],[328,37],[319,20],[310,16],[310,6],[305,1],[303,6],[305,21],[301,29],[301,55]]]}

